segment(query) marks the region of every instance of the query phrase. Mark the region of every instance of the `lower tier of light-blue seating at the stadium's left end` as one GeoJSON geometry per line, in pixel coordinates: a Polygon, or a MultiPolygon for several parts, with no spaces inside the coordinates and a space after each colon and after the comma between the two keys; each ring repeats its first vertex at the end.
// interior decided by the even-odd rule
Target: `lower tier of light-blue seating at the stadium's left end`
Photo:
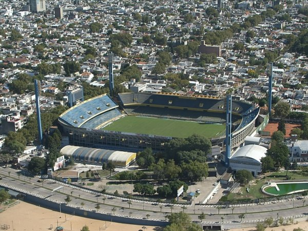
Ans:
{"type": "Polygon", "coordinates": [[[118,108],[115,108],[115,109],[106,111],[105,113],[100,114],[97,117],[92,118],[91,120],[87,121],[80,127],[94,129],[108,121],[111,121],[121,116],[122,116],[121,111],[119,111],[118,108]]]}

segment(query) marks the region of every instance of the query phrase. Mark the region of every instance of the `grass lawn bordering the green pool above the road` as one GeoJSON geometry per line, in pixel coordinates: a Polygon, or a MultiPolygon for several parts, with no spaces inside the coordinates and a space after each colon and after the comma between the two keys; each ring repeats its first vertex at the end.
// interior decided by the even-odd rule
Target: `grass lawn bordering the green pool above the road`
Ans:
{"type": "MultiPolygon", "coordinates": [[[[267,195],[263,194],[261,191],[261,187],[267,183],[267,181],[283,181],[285,179],[286,171],[277,171],[273,172],[271,175],[265,177],[262,180],[254,180],[253,183],[239,189],[236,189],[236,193],[230,193],[228,195],[228,200],[232,199],[256,199],[256,198],[263,198],[268,197],[267,195]],[[246,187],[249,187],[250,191],[246,191],[246,187]],[[237,193],[237,192],[241,192],[237,193]]],[[[300,174],[300,171],[288,171],[287,176],[290,176],[290,180],[306,180],[307,177],[300,174]]]]}

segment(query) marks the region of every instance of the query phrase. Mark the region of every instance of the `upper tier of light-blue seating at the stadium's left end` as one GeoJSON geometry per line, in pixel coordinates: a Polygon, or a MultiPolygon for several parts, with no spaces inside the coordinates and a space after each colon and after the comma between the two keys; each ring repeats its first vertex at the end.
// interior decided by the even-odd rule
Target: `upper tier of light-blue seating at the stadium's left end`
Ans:
{"type": "Polygon", "coordinates": [[[73,127],[81,127],[84,123],[113,108],[117,108],[106,94],[91,98],[63,112],[59,120],[73,127]]]}

